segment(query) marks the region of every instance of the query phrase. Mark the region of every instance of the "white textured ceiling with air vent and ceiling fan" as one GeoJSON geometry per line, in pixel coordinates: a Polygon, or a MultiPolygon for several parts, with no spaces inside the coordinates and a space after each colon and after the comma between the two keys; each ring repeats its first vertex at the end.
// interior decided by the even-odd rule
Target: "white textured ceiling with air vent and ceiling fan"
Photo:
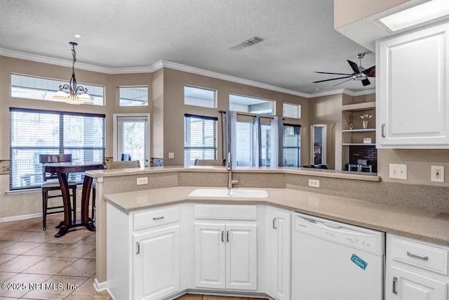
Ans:
{"type": "Polygon", "coordinates": [[[0,54],[71,60],[74,40],[78,63],[104,68],[167,60],[304,93],[375,88],[311,83],[333,78],[314,71],[351,73],[346,60],[368,52],[333,29],[333,0],[0,0],[0,20],[0,54]],[[230,49],[254,36],[264,41],[230,49]]]}

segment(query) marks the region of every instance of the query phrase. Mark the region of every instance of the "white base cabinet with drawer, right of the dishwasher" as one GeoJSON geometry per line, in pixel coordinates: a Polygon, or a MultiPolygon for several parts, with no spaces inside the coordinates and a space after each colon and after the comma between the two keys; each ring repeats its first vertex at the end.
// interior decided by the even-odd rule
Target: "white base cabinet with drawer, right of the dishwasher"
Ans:
{"type": "Polygon", "coordinates": [[[448,247],[387,234],[386,300],[448,300],[448,247]]]}

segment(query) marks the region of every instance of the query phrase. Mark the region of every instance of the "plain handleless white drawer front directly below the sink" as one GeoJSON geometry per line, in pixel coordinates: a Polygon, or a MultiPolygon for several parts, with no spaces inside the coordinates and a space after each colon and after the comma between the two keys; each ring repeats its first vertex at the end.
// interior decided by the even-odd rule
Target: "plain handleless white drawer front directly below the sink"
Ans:
{"type": "Polygon", "coordinates": [[[257,220],[257,206],[236,204],[195,204],[195,218],[257,220]]]}

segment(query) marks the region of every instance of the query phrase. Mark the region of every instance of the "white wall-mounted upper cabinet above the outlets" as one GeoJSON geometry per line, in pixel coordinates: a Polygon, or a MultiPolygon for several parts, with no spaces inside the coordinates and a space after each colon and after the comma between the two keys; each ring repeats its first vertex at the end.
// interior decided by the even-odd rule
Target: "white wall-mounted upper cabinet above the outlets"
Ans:
{"type": "Polygon", "coordinates": [[[448,30],[377,41],[377,148],[449,148],[448,30]]]}

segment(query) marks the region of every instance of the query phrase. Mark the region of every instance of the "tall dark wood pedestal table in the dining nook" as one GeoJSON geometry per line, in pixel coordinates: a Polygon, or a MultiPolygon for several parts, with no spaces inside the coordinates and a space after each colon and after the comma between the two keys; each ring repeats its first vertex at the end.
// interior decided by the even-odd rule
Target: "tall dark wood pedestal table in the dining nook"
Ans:
{"type": "MultiPolygon", "coordinates": [[[[84,176],[83,191],[81,194],[81,220],[72,220],[72,203],[70,201],[68,174],[89,170],[103,169],[102,162],[51,162],[42,164],[43,171],[58,174],[61,186],[62,201],[64,203],[64,221],[58,226],[59,231],[55,237],[62,237],[70,228],[85,226],[88,230],[95,231],[95,224],[89,218],[89,200],[93,178],[84,176]]],[[[76,207],[75,207],[76,209],[76,207]]]]}

